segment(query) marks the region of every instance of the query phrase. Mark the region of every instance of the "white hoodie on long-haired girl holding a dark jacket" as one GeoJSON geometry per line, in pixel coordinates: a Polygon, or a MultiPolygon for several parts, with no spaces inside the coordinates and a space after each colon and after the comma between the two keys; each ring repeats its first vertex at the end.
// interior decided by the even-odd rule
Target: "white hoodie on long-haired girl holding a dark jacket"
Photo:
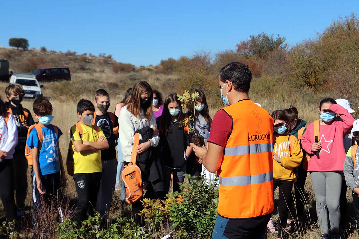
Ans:
{"type": "MultiPolygon", "coordinates": [[[[139,129],[142,129],[146,126],[157,127],[156,118],[152,114],[151,122],[145,118],[143,111],[141,110],[140,118],[133,115],[130,111],[127,110],[127,106],[123,106],[118,116],[118,135],[121,142],[121,149],[123,154],[123,161],[131,161],[131,152],[134,144],[134,135],[135,132],[139,129]]],[[[140,135],[141,140],[141,135],[140,135]]],[[[159,143],[158,135],[153,135],[151,141],[151,147],[156,147],[159,143]]]]}

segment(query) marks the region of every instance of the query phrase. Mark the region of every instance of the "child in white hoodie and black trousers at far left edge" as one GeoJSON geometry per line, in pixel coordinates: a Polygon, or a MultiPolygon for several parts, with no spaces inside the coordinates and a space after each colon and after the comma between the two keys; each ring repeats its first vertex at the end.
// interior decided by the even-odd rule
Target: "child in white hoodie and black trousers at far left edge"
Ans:
{"type": "Polygon", "coordinates": [[[12,114],[6,112],[0,99],[0,198],[4,205],[7,222],[16,219],[14,204],[14,168],[11,160],[18,143],[18,129],[12,114]]]}

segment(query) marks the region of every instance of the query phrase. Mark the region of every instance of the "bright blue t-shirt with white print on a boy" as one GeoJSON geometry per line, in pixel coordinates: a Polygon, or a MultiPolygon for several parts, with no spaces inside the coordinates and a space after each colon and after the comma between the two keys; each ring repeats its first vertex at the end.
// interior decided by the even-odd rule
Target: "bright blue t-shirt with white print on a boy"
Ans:
{"type": "MultiPolygon", "coordinates": [[[[49,125],[48,127],[42,127],[42,145],[41,151],[39,154],[39,173],[40,175],[48,175],[51,173],[56,173],[60,171],[60,160],[59,160],[59,138],[62,135],[61,130],[59,130],[59,135],[56,134],[55,129],[49,125]]],[[[39,138],[37,136],[37,130],[33,128],[29,134],[29,138],[26,141],[26,144],[30,147],[39,146],[39,138]]]]}

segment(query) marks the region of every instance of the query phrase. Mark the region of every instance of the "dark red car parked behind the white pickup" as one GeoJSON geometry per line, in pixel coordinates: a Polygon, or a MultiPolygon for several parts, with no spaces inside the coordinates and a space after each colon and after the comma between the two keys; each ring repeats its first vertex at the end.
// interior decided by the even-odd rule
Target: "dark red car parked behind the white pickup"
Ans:
{"type": "Polygon", "coordinates": [[[69,67],[38,68],[32,72],[38,81],[71,81],[69,67]]]}

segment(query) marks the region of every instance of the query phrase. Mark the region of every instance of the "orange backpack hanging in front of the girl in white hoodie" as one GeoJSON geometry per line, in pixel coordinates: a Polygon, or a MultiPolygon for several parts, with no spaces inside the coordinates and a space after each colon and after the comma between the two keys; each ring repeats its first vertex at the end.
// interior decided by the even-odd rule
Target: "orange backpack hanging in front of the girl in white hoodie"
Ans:
{"type": "Polygon", "coordinates": [[[122,170],[122,181],[126,188],[126,201],[133,204],[140,200],[143,196],[143,185],[141,169],[136,165],[136,148],[139,145],[140,136],[135,134],[134,146],[132,147],[131,162],[122,170]]]}

